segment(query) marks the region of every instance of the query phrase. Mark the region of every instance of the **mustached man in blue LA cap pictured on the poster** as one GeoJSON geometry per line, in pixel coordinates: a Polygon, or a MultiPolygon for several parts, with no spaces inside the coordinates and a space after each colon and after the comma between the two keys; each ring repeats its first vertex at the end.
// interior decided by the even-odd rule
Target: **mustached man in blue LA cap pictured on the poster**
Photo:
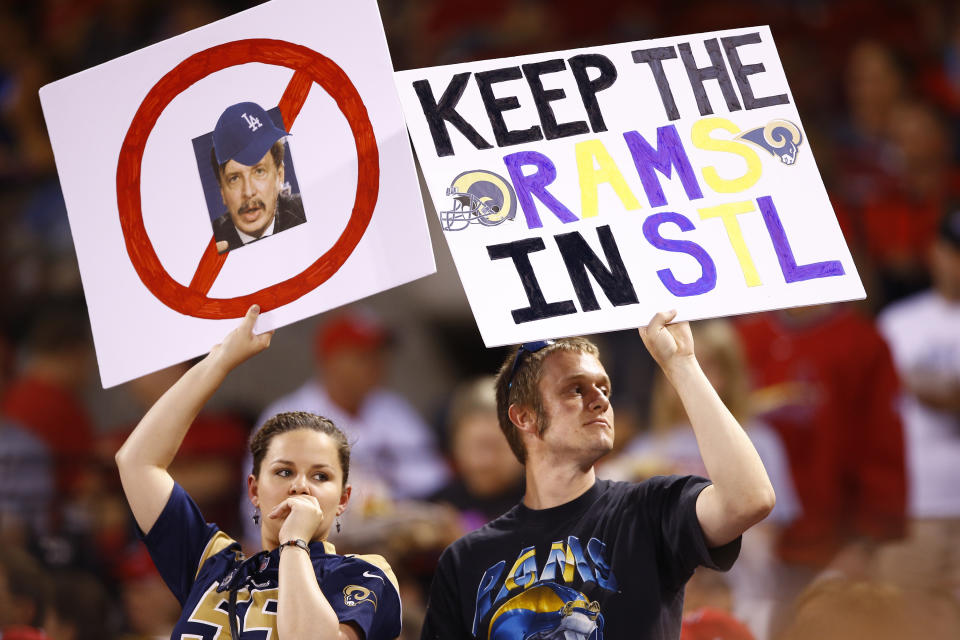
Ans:
{"type": "Polygon", "coordinates": [[[300,196],[284,190],[288,135],[253,102],[231,105],[217,120],[210,162],[227,207],[213,221],[219,253],[306,222],[300,196]]]}

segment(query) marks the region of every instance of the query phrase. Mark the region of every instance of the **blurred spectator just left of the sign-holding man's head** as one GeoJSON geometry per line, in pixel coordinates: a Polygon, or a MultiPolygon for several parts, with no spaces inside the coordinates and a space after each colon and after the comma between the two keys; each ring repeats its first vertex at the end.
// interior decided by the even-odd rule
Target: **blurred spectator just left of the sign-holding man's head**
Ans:
{"type": "Polygon", "coordinates": [[[507,512],[523,497],[523,467],[497,421],[493,376],[461,384],[450,402],[449,441],[455,477],[430,500],[452,505],[461,533],[507,512]]]}

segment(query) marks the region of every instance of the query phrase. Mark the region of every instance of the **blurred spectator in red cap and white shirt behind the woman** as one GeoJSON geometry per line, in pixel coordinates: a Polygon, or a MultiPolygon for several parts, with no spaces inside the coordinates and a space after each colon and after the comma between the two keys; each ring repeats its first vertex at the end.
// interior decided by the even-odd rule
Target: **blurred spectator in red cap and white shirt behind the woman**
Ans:
{"type": "Polygon", "coordinates": [[[383,387],[389,345],[387,327],[370,313],[336,312],[317,330],[316,376],[270,404],[259,420],[307,411],[343,430],[353,447],[350,473],[357,487],[350,517],[375,514],[390,499],[428,496],[449,475],[430,428],[406,400],[383,387]]]}

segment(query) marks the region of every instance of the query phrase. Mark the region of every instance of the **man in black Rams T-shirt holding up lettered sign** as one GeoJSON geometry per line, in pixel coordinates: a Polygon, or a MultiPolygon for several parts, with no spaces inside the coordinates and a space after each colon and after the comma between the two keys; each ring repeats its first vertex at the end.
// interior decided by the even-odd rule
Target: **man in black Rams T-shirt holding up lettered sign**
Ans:
{"type": "Polygon", "coordinates": [[[686,323],[640,336],[677,389],[710,479],[597,480],[613,448],[610,380],[583,338],[521,345],[497,376],[500,426],[525,465],[521,504],[440,559],[425,640],[677,638],[698,565],[729,569],[773,508],[749,438],[710,386],[686,323]]]}

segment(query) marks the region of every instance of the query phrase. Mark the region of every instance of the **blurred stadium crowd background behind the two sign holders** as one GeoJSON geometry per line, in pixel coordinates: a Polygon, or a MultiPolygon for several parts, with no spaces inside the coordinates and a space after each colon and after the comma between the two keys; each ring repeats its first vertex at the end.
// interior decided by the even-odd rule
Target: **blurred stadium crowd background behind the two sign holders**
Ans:
{"type": "MultiPolygon", "coordinates": [[[[4,640],[168,637],[179,614],[137,540],[113,454],[189,363],[100,387],[37,90],[252,4],[0,1],[4,640]]],[[[745,536],[732,572],[694,576],[683,638],[960,637],[955,0],[379,6],[397,70],[771,26],[868,297],[695,326],[704,369],[756,443],[778,505],[745,536]]],[[[522,494],[484,377],[504,352],[480,341],[426,208],[438,273],[278,331],[217,393],[171,470],[208,520],[256,550],[244,506],[249,434],[284,408],[332,417],[354,443],[356,470],[334,542],[387,556],[404,638],[419,637],[443,546],[522,494]]],[[[596,339],[617,409],[617,450],[600,475],[702,473],[682,409],[636,333],[596,339]]]]}

